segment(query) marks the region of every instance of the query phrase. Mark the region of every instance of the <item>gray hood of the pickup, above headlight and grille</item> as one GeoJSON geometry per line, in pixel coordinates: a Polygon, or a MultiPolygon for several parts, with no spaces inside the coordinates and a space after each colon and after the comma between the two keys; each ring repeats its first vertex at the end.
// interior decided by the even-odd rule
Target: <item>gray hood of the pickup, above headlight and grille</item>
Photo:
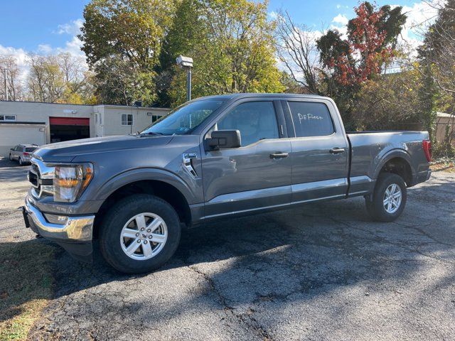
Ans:
{"type": "Polygon", "coordinates": [[[150,146],[164,146],[173,136],[122,135],[94,137],[56,144],[46,144],[33,152],[33,157],[45,162],[71,162],[76,156],[90,161],[90,154],[115,152],[126,149],[137,149],[150,146]]]}

